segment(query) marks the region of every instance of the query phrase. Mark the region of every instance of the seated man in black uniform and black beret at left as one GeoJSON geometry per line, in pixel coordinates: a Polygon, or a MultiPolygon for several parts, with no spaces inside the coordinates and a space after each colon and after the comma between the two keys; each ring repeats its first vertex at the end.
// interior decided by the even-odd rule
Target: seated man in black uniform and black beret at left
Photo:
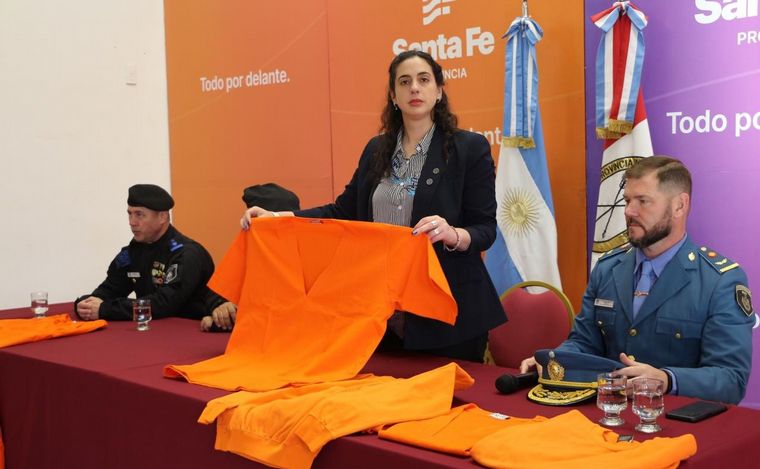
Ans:
{"type": "Polygon", "coordinates": [[[226,300],[206,287],[214,261],[199,243],[172,226],[174,199],[153,184],[129,188],[127,213],[132,241],[121,249],[103,283],[76,300],[80,319],[132,320],[132,300],[151,300],[154,319],[200,319],[226,300]]]}

